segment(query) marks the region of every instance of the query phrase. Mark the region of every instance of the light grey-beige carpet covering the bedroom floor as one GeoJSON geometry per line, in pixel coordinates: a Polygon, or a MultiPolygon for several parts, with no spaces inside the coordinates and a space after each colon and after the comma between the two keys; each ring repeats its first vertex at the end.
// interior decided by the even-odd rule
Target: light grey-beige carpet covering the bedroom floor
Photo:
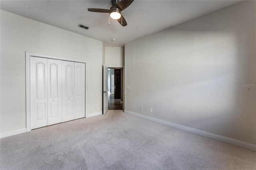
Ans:
{"type": "Polygon", "coordinates": [[[256,152],[108,111],[0,140],[0,169],[255,170],[256,152]]]}

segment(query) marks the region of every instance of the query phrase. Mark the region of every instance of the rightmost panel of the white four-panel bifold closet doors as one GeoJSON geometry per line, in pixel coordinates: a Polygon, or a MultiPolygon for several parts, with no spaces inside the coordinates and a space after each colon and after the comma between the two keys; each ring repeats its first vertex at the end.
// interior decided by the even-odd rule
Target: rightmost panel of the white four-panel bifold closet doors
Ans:
{"type": "Polygon", "coordinates": [[[74,119],[85,117],[85,63],[74,63],[74,119]]]}

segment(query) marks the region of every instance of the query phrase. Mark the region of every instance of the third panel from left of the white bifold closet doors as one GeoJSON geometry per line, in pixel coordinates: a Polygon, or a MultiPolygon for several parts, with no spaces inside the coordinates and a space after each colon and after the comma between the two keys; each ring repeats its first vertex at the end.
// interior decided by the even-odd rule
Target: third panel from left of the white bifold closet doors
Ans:
{"type": "Polygon", "coordinates": [[[74,62],[62,61],[62,122],[74,120],[74,62]]]}

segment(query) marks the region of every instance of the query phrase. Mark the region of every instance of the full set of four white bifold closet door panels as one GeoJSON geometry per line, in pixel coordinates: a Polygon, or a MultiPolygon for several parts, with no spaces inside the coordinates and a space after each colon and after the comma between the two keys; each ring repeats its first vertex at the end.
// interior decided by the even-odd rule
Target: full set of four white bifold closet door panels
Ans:
{"type": "Polygon", "coordinates": [[[85,63],[30,57],[31,129],[85,117],[85,63]]]}

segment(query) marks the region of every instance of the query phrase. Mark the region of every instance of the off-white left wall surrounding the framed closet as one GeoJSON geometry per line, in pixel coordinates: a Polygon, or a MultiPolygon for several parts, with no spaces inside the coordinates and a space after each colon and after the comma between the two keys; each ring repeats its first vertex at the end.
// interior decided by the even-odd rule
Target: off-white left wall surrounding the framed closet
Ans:
{"type": "Polygon", "coordinates": [[[3,10],[0,15],[1,133],[26,127],[25,51],[87,60],[88,113],[102,112],[102,42],[3,10]]]}

